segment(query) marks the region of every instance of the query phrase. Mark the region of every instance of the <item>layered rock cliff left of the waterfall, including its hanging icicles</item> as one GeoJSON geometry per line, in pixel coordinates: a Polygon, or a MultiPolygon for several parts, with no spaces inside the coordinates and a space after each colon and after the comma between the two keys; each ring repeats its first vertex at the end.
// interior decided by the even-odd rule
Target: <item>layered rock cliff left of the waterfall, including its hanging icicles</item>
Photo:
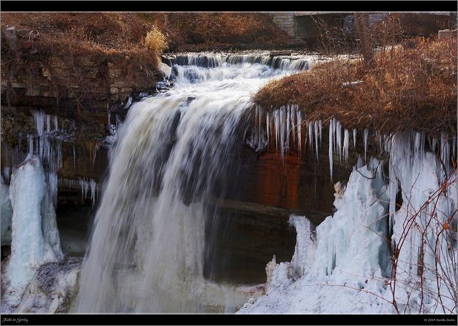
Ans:
{"type": "Polygon", "coordinates": [[[116,126],[132,101],[156,92],[162,74],[141,51],[54,48],[11,26],[1,41],[2,176],[9,183],[27,153],[49,156],[58,226],[70,238],[63,250],[83,255],[116,126]]]}

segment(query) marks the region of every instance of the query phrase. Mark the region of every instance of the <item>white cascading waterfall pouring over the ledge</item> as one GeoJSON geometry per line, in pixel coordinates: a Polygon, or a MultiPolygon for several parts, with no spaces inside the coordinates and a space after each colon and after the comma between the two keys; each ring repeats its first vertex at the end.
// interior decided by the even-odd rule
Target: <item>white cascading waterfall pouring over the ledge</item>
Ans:
{"type": "Polygon", "coordinates": [[[212,234],[218,227],[215,202],[244,142],[250,96],[287,72],[207,62],[210,68],[174,65],[175,87],[134,103],[119,128],[78,312],[230,309],[235,294],[203,277],[205,258],[211,260],[205,228],[212,234]]]}

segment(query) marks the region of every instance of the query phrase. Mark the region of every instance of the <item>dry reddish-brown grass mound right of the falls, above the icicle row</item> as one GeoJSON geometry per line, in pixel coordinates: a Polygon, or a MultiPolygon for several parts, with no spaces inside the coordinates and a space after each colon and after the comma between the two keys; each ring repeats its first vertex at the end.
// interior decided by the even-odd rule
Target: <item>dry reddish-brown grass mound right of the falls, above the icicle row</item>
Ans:
{"type": "Polygon", "coordinates": [[[254,98],[264,108],[297,104],[308,120],[382,133],[457,132],[457,39],[417,39],[380,52],[374,68],[342,58],[272,81],[254,98]],[[343,83],[362,81],[355,86],[343,83]]]}

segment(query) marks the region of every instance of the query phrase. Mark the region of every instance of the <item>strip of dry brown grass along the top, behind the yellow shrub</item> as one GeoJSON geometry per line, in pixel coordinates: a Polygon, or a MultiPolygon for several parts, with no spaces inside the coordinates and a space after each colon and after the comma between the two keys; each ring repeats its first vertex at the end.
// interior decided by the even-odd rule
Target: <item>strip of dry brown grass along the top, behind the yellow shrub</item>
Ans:
{"type": "Polygon", "coordinates": [[[144,37],[153,26],[166,36],[171,51],[287,40],[270,16],[261,13],[2,13],[2,31],[6,25],[21,35],[33,29],[40,39],[71,41],[73,49],[93,46],[117,52],[143,51],[144,37]]]}

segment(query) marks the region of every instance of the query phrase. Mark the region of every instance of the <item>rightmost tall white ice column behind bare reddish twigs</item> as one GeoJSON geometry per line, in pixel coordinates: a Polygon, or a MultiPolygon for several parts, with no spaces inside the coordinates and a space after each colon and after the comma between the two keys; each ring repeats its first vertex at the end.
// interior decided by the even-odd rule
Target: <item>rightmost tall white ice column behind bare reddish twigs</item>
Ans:
{"type": "MultiPolygon", "coordinates": [[[[417,141],[412,149],[411,137],[395,135],[390,151],[390,166],[402,193],[402,206],[391,212],[392,245],[399,251],[397,297],[400,302],[409,300],[402,307],[405,312],[456,313],[457,173],[433,153],[422,151],[417,141]],[[417,281],[423,284],[421,292],[412,291],[417,281]]],[[[394,192],[390,196],[392,203],[394,192]]]]}

